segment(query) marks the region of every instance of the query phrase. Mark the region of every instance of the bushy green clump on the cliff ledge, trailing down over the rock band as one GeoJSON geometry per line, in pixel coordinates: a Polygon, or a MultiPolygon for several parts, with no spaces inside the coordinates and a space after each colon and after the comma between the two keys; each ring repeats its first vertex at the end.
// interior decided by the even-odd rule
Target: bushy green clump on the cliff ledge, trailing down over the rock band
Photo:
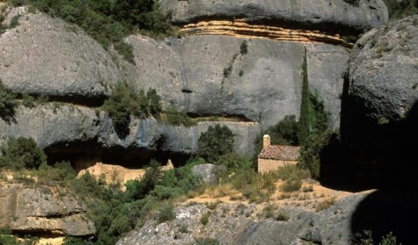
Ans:
{"type": "Polygon", "coordinates": [[[119,136],[125,137],[129,134],[131,116],[158,116],[162,111],[160,100],[161,97],[154,89],[148,90],[146,94],[144,90],[136,93],[132,86],[122,81],[116,84],[102,109],[109,113],[119,136]]]}

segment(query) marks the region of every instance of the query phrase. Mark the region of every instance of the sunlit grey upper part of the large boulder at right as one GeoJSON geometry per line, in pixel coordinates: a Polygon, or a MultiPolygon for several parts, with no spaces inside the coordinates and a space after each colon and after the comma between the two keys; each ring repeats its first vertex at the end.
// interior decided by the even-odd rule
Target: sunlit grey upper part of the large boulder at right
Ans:
{"type": "Polygon", "coordinates": [[[355,46],[348,70],[348,96],[366,117],[400,120],[418,99],[418,16],[366,33],[355,46]]]}

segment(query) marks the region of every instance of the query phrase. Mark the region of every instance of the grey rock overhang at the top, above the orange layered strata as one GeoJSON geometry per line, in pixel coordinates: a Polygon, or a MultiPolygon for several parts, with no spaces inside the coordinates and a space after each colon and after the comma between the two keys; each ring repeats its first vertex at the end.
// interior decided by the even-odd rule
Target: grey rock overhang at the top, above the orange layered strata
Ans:
{"type": "Polygon", "coordinates": [[[171,21],[183,24],[199,19],[245,19],[247,22],[293,22],[293,25],[346,26],[364,31],[386,22],[385,3],[380,0],[160,0],[162,9],[171,13],[171,21]],[[353,2],[353,1],[351,1],[353,2]]]}

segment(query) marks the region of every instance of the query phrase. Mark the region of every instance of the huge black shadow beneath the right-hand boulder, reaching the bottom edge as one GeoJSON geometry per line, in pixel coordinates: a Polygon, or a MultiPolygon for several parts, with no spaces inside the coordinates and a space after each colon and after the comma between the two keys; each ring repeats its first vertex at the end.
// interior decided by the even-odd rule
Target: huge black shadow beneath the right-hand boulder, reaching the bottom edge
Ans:
{"type": "MultiPolygon", "coordinates": [[[[344,85],[341,140],[321,154],[321,184],[367,195],[351,217],[352,234],[371,230],[376,244],[393,232],[403,245],[417,244],[414,221],[418,191],[418,101],[404,118],[376,120],[368,102],[349,95],[344,85]]],[[[378,114],[379,115],[379,114],[378,114]]]]}

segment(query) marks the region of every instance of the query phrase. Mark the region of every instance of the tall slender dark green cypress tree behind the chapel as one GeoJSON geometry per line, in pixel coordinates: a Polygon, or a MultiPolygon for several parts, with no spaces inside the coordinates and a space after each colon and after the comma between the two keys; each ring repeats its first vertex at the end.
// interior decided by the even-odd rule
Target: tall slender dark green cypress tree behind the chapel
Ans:
{"type": "Polygon", "coordinates": [[[309,136],[309,81],[308,81],[308,62],[307,48],[304,48],[304,57],[302,63],[302,102],[300,104],[299,119],[299,141],[304,145],[309,136]]]}

